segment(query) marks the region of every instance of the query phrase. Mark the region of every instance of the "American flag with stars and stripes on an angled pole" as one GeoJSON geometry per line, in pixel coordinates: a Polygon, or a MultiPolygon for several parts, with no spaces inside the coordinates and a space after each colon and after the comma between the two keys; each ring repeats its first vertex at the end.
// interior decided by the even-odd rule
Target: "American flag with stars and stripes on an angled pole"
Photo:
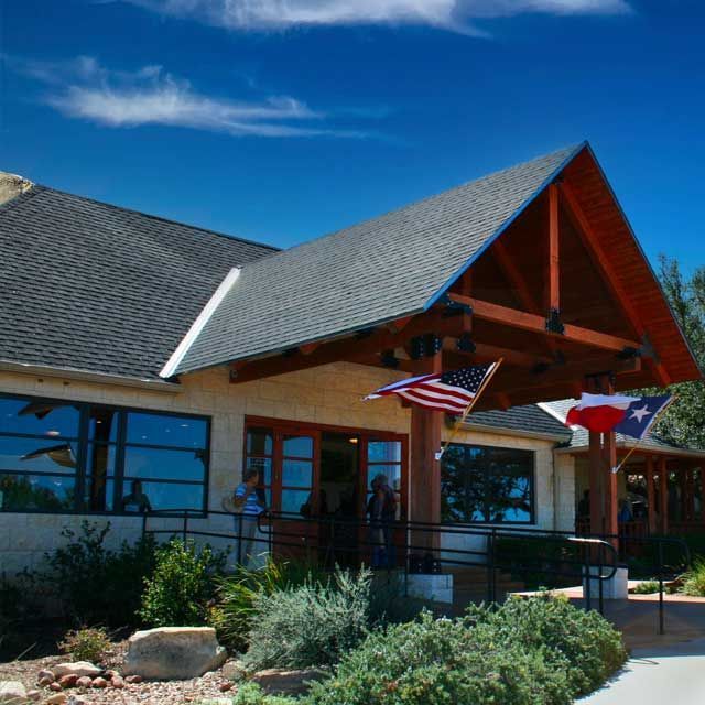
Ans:
{"type": "Polygon", "coordinates": [[[492,373],[496,366],[497,362],[491,362],[464,367],[452,372],[410,377],[387,384],[365,399],[379,399],[397,394],[412,404],[420,404],[448,414],[462,414],[475,399],[482,382],[492,373]]]}

